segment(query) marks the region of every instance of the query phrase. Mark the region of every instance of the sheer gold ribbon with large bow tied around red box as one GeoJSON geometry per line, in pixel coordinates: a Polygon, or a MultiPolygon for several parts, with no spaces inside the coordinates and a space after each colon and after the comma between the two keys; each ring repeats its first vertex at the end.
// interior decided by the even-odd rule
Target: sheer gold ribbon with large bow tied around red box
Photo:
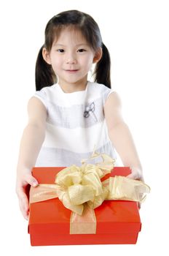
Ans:
{"type": "Polygon", "coordinates": [[[58,197],[63,205],[72,211],[70,233],[95,233],[94,208],[104,200],[133,200],[142,202],[150,188],[142,181],[124,176],[115,176],[101,182],[114,167],[114,159],[106,154],[93,152],[91,159],[102,157],[95,165],[82,160],[82,166],[71,165],[55,177],[55,184],[39,184],[30,189],[30,203],[58,197]]]}

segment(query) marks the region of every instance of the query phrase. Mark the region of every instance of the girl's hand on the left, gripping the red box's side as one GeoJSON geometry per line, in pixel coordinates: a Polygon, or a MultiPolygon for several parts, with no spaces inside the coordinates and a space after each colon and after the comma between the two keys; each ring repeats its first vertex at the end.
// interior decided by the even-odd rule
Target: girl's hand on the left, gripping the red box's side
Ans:
{"type": "Polygon", "coordinates": [[[17,175],[16,193],[20,204],[20,211],[22,212],[23,217],[27,220],[29,214],[29,189],[30,186],[36,187],[37,185],[38,181],[36,181],[36,178],[34,178],[30,172],[25,173],[24,175],[17,175]]]}

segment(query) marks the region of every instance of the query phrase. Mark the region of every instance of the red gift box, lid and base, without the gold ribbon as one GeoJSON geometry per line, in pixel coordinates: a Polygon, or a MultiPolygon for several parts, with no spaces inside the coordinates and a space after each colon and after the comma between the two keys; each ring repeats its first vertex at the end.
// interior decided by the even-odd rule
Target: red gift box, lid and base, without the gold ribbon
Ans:
{"type": "MultiPolygon", "coordinates": [[[[39,184],[53,184],[56,174],[63,168],[34,167],[32,174],[39,184]]],[[[129,167],[114,167],[110,176],[127,176],[129,173],[129,167]]],[[[71,211],[58,198],[31,203],[28,223],[31,245],[136,243],[141,230],[136,202],[105,200],[95,208],[95,217],[95,234],[70,234],[71,211]]]]}

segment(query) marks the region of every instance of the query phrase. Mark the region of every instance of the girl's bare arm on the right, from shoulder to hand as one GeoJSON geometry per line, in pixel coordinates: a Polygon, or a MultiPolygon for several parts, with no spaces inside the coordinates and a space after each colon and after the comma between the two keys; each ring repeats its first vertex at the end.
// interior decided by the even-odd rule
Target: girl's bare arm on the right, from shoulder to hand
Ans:
{"type": "Polygon", "coordinates": [[[133,142],[130,129],[122,118],[121,102],[116,92],[111,93],[104,106],[109,138],[122,159],[124,166],[131,169],[128,178],[144,181],[141,162],[133,142]]]}

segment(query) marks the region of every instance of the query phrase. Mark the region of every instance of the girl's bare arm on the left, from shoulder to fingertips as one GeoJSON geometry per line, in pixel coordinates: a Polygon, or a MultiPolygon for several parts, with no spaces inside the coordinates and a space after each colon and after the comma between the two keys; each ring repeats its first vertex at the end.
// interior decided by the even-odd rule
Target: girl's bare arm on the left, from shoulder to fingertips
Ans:
{"type": "Polygon", "coordinates": [[[32,97],[28,102],[28,124],[23,131],[17,162],[16,192],[25,219],[28,219],[28,185],[38,184],[31,170],[44,141],[46,118],[46,108],[39,99],[32,97]]]}

